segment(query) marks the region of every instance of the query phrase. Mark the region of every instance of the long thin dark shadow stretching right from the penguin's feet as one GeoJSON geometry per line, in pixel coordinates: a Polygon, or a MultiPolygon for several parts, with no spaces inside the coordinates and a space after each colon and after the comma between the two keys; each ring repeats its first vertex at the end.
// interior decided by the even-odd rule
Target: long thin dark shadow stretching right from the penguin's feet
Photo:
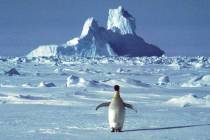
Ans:
{"type": "Polygon", "coordinates": [[[198,125],[183,125],[183,126],[171,126],[171,127],[129,129],[129,130],[124,130],[123,132],[170,130],[170,129],[180,129],[180,128],[199,127],[199,126],[210,126],[210,124],[198,124],[198,125]]]}

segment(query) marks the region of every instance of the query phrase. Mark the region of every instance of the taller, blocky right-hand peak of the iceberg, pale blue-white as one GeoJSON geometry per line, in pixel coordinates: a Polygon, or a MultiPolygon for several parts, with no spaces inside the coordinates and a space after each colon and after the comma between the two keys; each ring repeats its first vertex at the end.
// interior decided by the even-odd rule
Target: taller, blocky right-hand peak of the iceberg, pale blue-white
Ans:
{"type": "Polygon", "coordinates": [[[107,21],[107,29],[120,34],[135,34],[135,18],[124,10],[122,6],[117,9],[110,9],[107,21]]]}

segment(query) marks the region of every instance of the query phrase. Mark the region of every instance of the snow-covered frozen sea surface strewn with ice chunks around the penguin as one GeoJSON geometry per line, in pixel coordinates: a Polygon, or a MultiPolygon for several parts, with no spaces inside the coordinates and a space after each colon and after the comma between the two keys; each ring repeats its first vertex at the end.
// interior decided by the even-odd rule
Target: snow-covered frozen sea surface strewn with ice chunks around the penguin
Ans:
{"type": "Polygon", "coordinates": [[[0,139],[208,140],[209,74],[206,57],[0,58],[0,139]],[[126,110],[122,133],[110,132],[107,108],[95,111],[114,84],[138,110],[126,110]]]}

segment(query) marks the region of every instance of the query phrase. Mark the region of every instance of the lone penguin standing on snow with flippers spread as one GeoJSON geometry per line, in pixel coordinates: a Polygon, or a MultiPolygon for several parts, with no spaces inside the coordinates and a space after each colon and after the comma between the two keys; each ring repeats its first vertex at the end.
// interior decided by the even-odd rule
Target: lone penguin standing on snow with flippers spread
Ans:
{"type": "Polygon", "coordinates": [[[122,132],[125,120],[125,107],[132,109],[135,112],[137,112],[137,110],[131,104],[123,102],[122,98],[120,97],[119,85],[115,85],[114,90],[115,94],[111,102],[99,104],[96,107],[96,110],[98,110],[100,107],[108,107],[108,120],[111,132],[122,132]]]}

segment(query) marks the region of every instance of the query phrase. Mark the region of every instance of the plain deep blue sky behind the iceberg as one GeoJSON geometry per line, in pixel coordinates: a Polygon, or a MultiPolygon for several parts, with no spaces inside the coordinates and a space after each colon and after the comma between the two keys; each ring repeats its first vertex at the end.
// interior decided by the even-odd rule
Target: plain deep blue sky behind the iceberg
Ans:
{"type": "Polygon", "coordinates": [[[210,56],[210,0],[0,0],[0,56],[24,56],[39,45],[80,35],[88,17],[106,27],[122,5],[136,33],[167,56],[210,56]]]}

